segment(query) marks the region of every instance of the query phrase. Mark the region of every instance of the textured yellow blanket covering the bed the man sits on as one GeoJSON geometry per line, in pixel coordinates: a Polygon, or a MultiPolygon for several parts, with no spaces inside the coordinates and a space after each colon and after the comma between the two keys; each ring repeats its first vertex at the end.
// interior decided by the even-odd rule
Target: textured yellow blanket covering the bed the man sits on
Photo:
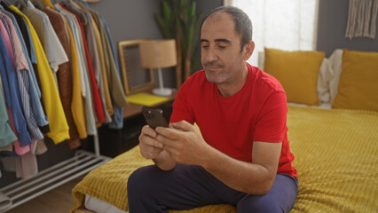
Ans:
{"type": "MultiPolygon", "coordinates": [[[[288,106],[288,139],[299,192],[291,212],[378,211],[378,113],[288,106]]],[[[75,206],[89,194],[128,210],[126,183],[133,170],[152,164],[138,146],[92,170],[73,189],[75,206]]],[[[230,205],[187,211],[235,212],[230,205]]]]}

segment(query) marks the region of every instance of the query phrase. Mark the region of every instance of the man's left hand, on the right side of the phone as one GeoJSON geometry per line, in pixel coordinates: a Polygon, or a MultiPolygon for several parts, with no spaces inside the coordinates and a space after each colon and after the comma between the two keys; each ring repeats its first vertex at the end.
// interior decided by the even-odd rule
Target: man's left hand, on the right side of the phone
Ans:
{"type": "Polygon", "coordinates": [[[212,147],[204,141],[199,130],[185,121],[170,123],[169,127],[156,128],[156,140],[176,162],[201,165],[207,161],[212,147]]]}

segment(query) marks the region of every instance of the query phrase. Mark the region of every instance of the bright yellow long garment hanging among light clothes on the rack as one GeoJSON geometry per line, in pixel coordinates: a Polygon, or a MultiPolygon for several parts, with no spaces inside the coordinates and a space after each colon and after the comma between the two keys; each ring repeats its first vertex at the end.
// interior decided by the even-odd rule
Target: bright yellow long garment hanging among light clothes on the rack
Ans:
{"type": "Polygon", "coordinates": [[[33,28],[28,17],[20,12],[14,5],[11,5],[10,8],[14,12],[19,13],[28,24],[30,36],[32,37],[35,47],[36,60],[38,61],[36,67],[41,82],[44,109],[50,121],[50,132],[47,133],[47,136],[51,138],[55,144],[59,144],[60,142],[69,139],[69,128],[49,62],[47,61],[42,44],[35,32],[35,28],[33,28]]]}

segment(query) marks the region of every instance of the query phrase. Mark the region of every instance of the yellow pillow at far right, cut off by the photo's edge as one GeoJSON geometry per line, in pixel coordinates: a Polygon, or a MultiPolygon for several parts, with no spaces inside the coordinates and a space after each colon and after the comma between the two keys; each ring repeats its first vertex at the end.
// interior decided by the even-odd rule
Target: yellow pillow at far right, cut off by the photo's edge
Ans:
{"type": "Polygon", "coordinates": [[[378,52],[343,50],[343,71],[332,107],[378,111],[378,52]]]}

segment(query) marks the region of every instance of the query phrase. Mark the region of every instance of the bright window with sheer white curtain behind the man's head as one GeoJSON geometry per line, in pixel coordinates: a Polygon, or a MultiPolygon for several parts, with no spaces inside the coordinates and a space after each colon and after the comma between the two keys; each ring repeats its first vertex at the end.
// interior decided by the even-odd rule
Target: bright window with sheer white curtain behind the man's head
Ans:
{"type": "Polygon", "coordinates": [[[224,0],[239,7],[252,20],[256,43],[248,62],[257,66],[264,47],[283,51],[313,51],[316,48],[318,0],[224,0]]]}

